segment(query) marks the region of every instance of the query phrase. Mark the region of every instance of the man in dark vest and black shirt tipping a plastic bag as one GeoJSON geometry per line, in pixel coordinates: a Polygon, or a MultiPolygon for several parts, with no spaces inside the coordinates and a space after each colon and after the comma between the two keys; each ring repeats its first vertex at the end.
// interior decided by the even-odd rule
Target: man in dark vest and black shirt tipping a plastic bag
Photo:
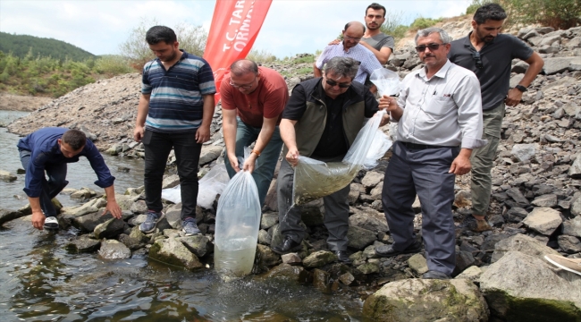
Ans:
{"type": "MultiPolygon", "coordinates": [[[[283,242],[274,252],[286,254],[300,249],[305,232],[300,223],[300,207],[290,208],[292,182],[299,156],[324,162],[341,161],[363,127],[364,119],[378,111],[377,102],[363,84],[353,81],[358,61],[334,57],[324,67],[324,76],[297,85],[282,112],[280,125],[285,144],[278,174],[278,209],[283,242]]],[[[388,122],[383,117],[382,125],[388,122]]],[[[349,229],[349,184],[324,197],[324,225],[329,232],[327,243],[341,262],[347,255],[349,229]]]]}

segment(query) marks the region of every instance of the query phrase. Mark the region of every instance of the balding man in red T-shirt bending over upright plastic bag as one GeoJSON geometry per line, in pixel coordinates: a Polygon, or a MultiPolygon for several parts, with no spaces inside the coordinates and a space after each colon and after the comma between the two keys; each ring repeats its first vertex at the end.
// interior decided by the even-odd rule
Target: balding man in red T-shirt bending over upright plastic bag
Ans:
{"type": "Polygon", "coordinates": [[[230,74],[224,77],[220,92],[226,170],[231,178],[240,170],[252,174],[262,207],[281,155],[278,123],[289,100],[289,89],[280,73],[241,59],[230,67],[230,74]],[[240,164],[244,147],[255,141],[250,156],[240,164]]]}

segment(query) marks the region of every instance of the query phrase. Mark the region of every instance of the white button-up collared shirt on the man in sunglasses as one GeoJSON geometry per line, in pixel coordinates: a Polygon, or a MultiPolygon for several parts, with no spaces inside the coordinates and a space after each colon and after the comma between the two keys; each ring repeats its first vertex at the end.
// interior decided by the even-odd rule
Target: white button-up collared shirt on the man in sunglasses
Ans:
{"type": "Polygon", "coordinates": [[[480,148],[482,98],[474,72],[447,61],[430,80],[425,67],[402,81],[398,105],[404,109],[398,140],[444,147],[480,148]]]}

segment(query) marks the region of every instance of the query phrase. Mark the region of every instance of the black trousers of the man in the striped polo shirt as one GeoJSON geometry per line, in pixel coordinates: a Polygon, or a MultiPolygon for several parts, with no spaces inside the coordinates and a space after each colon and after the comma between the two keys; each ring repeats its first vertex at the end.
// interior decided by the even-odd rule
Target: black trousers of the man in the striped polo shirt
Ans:
{"type": "Polygon", "coordinates": [[[160,133],[145,131],[145,191],[150,210],[162,211],[162,182],[165,165],[172,148],[175,152],[181,185],[181,219],[196,218],[198,201],[198,162],[202,145],[196,142],[196,133],[160,133]]]}

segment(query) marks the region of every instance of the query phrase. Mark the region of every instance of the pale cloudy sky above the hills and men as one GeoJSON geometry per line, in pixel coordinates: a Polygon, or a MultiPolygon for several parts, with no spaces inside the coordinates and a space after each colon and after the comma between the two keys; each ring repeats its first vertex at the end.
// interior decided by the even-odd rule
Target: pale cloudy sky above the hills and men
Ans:
{"type": "MultiPolygon", "coordinates": [[[[257,0],[261,1],[261,0],[257,0]]],[[[274,0],[253,49],[279,58],[315,53],[349,21],[362,21],[377,2],[405,24],[417,17],[453,17],[471,0],[274,0]]],[[[142,21],[210,29],[215,0],[1,0],[0,31],[55,38],[95,55],[122,54],[119,46],[142,21]]],[[[179,40],[179,39],[178,39],[179,40]]]]}

